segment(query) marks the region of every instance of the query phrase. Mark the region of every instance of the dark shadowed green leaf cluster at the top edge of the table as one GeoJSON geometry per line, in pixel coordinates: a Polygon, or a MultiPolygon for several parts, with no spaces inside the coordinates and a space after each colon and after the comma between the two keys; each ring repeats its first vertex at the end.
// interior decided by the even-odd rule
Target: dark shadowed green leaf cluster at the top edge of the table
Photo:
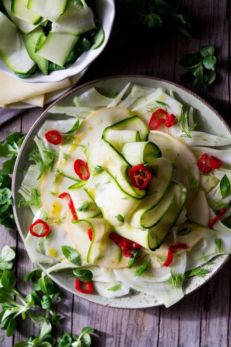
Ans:
{"type": "MultiPolygon", "coordinates": [[[[132,0],[127,5],[127,13],[137,26],[169,31],[177,29],[187,37],[192,37],[194,18],[187,5],[179,6],[174,0],[132,0]]],[[[129,18],[128,17],[128,18],[129,18]]]]}

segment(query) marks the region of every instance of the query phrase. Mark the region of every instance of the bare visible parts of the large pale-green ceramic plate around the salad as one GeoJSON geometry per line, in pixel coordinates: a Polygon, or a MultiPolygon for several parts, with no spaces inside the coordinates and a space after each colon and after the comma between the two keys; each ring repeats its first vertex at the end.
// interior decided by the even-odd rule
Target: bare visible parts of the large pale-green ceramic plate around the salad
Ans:
{"type": "MultiPolygon", "coordinates": [[[[13,175],[13,199],[14,199],[14,213],[16,218],[16,223],[18,226],[18,230],[23,240],[27,235],[29,230],[29,226],[33,220],[32,212],[29,212],[26,208],[18,209],[18,203],[20,200],[20,196],[18,194],[18,189],[20,187],[21,181],[23,179],[23,175],[21,173],[21,168],[25,166],[25,161],[27,153],[29,149],[34,145],[33,138],[36,135],[38,129],[47,119],[63,119],[65,115],[50,113],[49,110],[54,105],[72,105],[73,97],[79,95],[80,93],[86,91],[88,88],[94,86],[99,92],[103,94],[107,94],[108,91],[117,90],[120,91],[122,88],[128,83],[137,83],[145,86],[154,86],[154,87],[162,87],[166,90],[171,90],[174,92],[175,98],[182,103],[185,103],[188,107],[192,106],[194,108],[194,119],[195,121],[199,121],[199,129],[198,130],[206,130],[206,132],[211,134],[216,134],[223,137],[231,137],[230,128],[222,119],[222,117],[204,100],[199,98],[193,92],[186,90],[185,88],[168,81],[164,81],[161,79],[151,78],[151,77],[143,77],[143,76],[119,76],[119,77],[111,77],[108,79],[101,79],[98,81],[93,81],[84,85],[81,85],[74,90],[66,93],[61,98],[59,98],[56,102],[54,102],[42,115],[37,119],[33,127],[28,132],[24,144],[20,149],[14,175],[13,175]]],[[[127,91],[128,92],[128,91],[127,91]]],[[[67,117],[67,116],[66,116],[67,117]]],[[[67,117],[68,118],[68,117],[67,117]]],[[[215,257],[213,259],[213,263],[210,268],[210,273],[208,273],[204,278],[192,277],[184,282],[184,292],[185,294],[192,293],[196,288],[202,286],[205,282],[207,282],[226,262],[229,255],[221,255],[215,257]]],[[[46,271],[46,264],[39,264],[41,268],[46,271]]],[[[106,305],[109,307],[115,308],[145,308],[158,306],[161,303],[156,300],[155,297],[151,295],[145,295],[142,293],[133,293],[131,292],[129,295],[124,297],[115,298],[115,299],[106,299],[100,297],[98,294],[81,294],[77,293],[74,289],[73,285],[73,276],[70,275],[71,271],[60,271],[56,273],[52,273],[49,276],[58,283],[64,289],[70,291],[74,295],[78,295],[79,297],[86,299],[90,302],[94,302],[100,305],[106,305]]]]}

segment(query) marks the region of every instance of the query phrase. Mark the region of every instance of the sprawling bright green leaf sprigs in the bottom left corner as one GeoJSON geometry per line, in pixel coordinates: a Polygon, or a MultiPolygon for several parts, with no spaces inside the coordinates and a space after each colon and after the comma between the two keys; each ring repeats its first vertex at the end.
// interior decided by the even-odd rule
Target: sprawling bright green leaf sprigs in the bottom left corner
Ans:
{"type": "MultiPolygon", "coordinates": [[[[29,336],[26,341],[18,341],[14,347],[53,347],[56,339],[52,337],[53,324],[59,323],[61,316],[52,311],[53,298],[60,295],[59,288],[53,281],[36,266],[25,277],[25,282],[32,280],[32,290],[26,297],[22,296],[16,289],[16,276],[12,271],[15,251],[9,246],[4,246],[0,254],[0,324],[1,329],[6,330],[6,336],[14,335],[17,329],[17,316],[26,319],[29,317],[33,323],[42,324],[39,336],[29,336]],[[44,314],[37,314],[36,308],[43,309],[44,314]],[[33,309],[33,312],[32,310],[33,309]],[[34,313],[35,312],[35,313],[34,313]]],[[[94,329],[85,327],[79,337],[64,333],[59,346],[82,346],[91,345],[90,333],[94,329]],[[71,345],[72,344],[72,345],[71,345]]],[[[0,342],[3,337],[0,337],[0,342]]]]}

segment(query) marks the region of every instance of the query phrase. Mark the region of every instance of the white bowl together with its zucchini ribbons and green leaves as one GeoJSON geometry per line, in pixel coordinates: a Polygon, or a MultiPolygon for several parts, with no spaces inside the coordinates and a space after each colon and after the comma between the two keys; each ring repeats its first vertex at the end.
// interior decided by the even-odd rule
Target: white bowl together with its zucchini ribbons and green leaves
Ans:
{"type": "Polygon", "coordinates": [[[0,71],[24,82],[62,81],[104,50],[114,0],[2,0],[0,71]]]}

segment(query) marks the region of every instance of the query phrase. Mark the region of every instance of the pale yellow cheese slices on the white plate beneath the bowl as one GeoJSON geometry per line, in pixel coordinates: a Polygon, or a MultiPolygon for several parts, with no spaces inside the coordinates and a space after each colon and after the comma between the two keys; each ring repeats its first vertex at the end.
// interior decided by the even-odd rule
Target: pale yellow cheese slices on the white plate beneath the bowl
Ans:
{"type": "MultiPolygon", "coordinates": [[[[24,101],[25,99],[28,102],[29,98],[34,98],[37,95],[71,87],[72,82],[70,78],[66,78],[59,82],[28,83],[0,71],[0,86],[0,105],[1,107],[7,107],[11,103],[24,101]]],[[[33,100],[30,100],[29,103],[34,104],[33,102],[33,100]]]]}

